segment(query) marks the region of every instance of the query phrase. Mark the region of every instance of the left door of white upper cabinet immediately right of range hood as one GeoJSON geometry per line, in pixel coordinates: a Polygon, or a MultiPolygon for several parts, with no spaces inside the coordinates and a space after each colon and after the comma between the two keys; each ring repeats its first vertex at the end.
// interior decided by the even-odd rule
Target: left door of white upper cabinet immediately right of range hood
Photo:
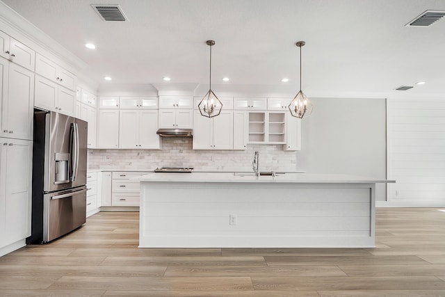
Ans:
{"type": "Polygon", "coordinates": [[[200,111],[193,116],[193,150],[213,150],[213,120],[202,116],[200,111]]]}

